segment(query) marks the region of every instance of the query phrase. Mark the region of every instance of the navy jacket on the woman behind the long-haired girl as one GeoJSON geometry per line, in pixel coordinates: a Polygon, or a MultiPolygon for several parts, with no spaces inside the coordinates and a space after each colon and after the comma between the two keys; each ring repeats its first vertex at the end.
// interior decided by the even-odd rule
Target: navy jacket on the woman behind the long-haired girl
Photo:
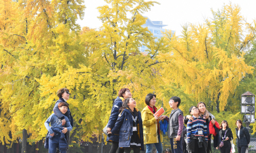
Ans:
{"type": "MultiPolygon", "coordinates": [[[[110,119],[108,122],[108,127],[110,127],[111,129],[115,126],[115,123],[116,123],[116,121],[118,119],[118,115],[119,115],[119,109],[122,106],[123,106],[122,100],[119,97],[117,97],[113,103],[111,114],[110,114],[110,119]]],[[[119,142],[119,134],[111,135],[110,137],[108,136],[107,141],[119,142]]]]}

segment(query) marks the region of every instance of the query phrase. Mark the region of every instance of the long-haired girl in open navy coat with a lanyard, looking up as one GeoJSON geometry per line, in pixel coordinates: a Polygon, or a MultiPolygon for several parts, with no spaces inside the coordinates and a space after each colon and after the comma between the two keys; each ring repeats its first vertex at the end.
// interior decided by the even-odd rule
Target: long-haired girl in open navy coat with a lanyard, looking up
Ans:
{"type": "Polygon", "coordinates": [[[134,153],[144,150],[141,113],[135,106],[135,100],[127,98],[120,108],[115,126],[109,132],[119,134],[119,147],[125,148],[124,153],[130,153],[132,149],[134,153]]]}

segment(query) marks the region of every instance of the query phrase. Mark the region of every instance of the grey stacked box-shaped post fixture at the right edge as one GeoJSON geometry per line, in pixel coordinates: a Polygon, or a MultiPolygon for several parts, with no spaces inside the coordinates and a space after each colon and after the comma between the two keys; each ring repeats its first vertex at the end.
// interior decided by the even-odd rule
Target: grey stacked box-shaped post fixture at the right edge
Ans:
{"type": "Polygon", "coordinates": [[[255,95],[246,92],[241,95],[241,114],[244,114],[244,122],[249,129],[250,123],[254,123],[255,118],[255,95]]]}

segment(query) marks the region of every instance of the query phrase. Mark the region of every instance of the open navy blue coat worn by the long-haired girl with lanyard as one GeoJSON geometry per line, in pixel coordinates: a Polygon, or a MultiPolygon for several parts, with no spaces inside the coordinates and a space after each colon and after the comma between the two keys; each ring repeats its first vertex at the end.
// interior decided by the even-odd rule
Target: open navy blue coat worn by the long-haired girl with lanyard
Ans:
{"type": "MultiPolygon", "coordinates": [[[[138,111],[138,110],[137,110],[138,111]]],[[[138,136],[140,138],[140,150],[144,151],[143,125],[141,112],[138,111],[138,136]]],[[[132,125],[133,119],[129,109],[124,109],[118,116],[115,126],[112,128],[112,135],[119,134],[119,147],[130,147],[131,136],[133,134],[132,125]]]]}

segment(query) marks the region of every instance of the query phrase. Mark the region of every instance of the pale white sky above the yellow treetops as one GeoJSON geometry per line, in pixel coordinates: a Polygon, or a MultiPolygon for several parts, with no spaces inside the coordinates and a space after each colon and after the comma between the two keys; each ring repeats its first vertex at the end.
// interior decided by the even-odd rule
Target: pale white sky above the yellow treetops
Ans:
{"type": "MultiPolygon", "coordinates": [[[[84,18],[77,23],[83,27],[99,28],[101,21],[97,18],[100,13],[99,6],[106,5],[104,0],[84,0],[85,10],[84,18]]],[[[176,35],[182,34],[182,25],[186,23],[201,24],[205,17],[212,17],[211,8],[217,11],[230,0],[155,0],[160,5],[155,4],[150,11],[145,12],[143,16],[152,21],[163,21],[165,29],[174,30],[176,35]]],[[[232,0],[232,4],[238,4],[241,8],[241,15],[246,18],[248,23],[256,20],[256,0],[232,0]]]]}

